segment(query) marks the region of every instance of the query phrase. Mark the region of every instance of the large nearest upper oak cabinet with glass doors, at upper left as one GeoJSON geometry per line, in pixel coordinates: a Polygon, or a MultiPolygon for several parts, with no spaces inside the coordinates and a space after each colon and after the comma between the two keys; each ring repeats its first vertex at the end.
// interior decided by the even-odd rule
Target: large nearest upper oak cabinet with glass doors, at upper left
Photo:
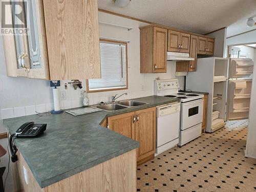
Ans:
{"type": "MultiPolygon", "coordinates": [[[[27,1],[27,5],[23,17],[28,34],[3,36],[7,75],[100,78],[98,1],[38,0],[27,1]],[[24,65],[19,65],[22,54],[26,55],[24,65]]],[[[13,22],[15,8],[9,15],[13,22]]]]}

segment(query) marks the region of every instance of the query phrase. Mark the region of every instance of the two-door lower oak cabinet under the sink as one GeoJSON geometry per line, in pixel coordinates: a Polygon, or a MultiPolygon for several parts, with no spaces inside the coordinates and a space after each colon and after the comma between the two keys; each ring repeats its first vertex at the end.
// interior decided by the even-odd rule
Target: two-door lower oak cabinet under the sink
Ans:
{"type": "Polygon", "coordinates": [[[108,117],[108,127],[140,142],[137,164],[154,158],[156,153],[156,108],[108,117]]]}

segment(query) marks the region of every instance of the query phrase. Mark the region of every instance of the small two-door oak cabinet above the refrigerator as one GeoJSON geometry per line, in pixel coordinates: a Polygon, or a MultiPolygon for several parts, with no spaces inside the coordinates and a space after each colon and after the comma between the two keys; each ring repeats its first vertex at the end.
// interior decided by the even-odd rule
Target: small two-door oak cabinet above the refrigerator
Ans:
{"type": "Polygon", "coordinates": [[[198,54],[214,55],[214,39],[198,37],[198,54]]]}

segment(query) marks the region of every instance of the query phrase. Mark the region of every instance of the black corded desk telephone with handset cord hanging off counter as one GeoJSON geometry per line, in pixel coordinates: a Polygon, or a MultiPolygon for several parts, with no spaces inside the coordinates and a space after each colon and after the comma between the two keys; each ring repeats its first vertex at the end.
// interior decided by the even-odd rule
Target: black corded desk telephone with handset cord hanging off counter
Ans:
{"type": "Polygon", "coordinates": [[[27,122],[24,123],[22,126],[19,127],[19,129],[10,136],[9,138],[9,146],[10,146],[10,152],[12,154],[12,162],[15,162],[18,160],[18,157],[16,155],[18,149],[14,143],[14,140],[18,137],[38,137],[44,131],[46,131],[46,125],[47,124],[34,124],[34,122],[27,122]]]}

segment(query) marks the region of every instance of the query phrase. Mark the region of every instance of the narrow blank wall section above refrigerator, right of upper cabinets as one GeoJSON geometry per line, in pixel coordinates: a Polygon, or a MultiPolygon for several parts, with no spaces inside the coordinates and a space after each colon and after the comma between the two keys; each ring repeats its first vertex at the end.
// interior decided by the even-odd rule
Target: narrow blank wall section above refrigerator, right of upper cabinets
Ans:
{"type": "Polygon", "coordinates": [[[208,36],[215,37],[214,56],[223,57],[226,41],[226,28],[210,33],[208,36]]]}

